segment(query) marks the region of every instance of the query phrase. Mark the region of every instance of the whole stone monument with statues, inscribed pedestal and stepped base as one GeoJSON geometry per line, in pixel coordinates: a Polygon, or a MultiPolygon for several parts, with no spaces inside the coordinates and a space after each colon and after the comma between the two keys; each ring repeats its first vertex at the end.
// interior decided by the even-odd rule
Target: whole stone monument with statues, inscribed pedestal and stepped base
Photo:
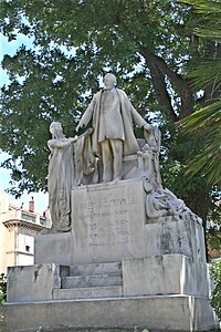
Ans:
{"type": "Polygon", "coordinates": [[[159,129],[104,82],[76,127],[92,128],[66,138],[51,125],[53,226],[34,266],[8,270],[4,331],[209,331],[201,219],[161,185],[159,129]]]}

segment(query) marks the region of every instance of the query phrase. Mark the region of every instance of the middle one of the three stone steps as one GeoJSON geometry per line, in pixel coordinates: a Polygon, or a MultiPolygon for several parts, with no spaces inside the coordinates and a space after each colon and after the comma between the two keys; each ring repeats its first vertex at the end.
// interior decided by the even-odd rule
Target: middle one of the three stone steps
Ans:
{"type": "Polygon", "coordinates": [[[63,277],[62,288],[90,288],[105,286],[122,286],[123,277],[119,273],[63,277]]]}

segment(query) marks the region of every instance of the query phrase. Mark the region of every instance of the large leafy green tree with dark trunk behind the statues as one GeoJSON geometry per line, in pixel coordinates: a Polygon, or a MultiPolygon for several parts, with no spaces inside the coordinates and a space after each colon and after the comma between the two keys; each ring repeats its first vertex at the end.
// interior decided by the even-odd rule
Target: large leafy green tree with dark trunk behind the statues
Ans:
{"type": "Polygon", "coordinates": [[[147,121],[160,124],[162,175],[204,220],[210,187],[203,178],[188,179],[185,165],[203,146],[183,142],[175,123],[206,103],[188,73],[218,45],[193,33],[191,6],[158,0],[11,0],[1,1],[1,30],[13,41],[19,33],[33,46],[21,46],[3,68],[10,85],[2,91],[0,148],[11,158],[13,194],[45,187],[49,124],[61,121],[66,135],[112,71],[147,121]],[[168,173],[169,172],[169,173],[168,173]]]}

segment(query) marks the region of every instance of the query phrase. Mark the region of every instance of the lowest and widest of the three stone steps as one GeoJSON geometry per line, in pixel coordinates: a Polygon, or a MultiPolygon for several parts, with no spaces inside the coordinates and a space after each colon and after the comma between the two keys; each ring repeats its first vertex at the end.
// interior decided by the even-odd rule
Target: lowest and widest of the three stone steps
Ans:
{"type": "Polygon", "coordinates": [[[123,297],[122,286],[76,288],[76,289],[53,289],[54,300],[98,299],[98,298],[120,298],[120,297],[123,297]]]}

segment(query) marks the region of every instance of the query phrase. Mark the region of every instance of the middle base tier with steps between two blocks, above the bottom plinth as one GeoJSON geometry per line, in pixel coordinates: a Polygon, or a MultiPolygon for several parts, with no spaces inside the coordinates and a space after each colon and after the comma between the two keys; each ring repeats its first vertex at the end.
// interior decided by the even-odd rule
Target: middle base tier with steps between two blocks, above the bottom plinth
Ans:
{"type": "Polygon", "coordinates": [[[207,264],[182,255],[75,267],[54,263],[10,267],[7,286],[9,302],[76,299],[83,293],[88,294],[84,298],[110,297],[113,289],[109,287],[113,286],[118,287],[115,291],[124,297],[187,294],[208,298],[210,293],[207,264]],[[109,266],[116,270],[109,271],[109,266]],[[120,268],[116,268],[118,266],[120,268]]]}

